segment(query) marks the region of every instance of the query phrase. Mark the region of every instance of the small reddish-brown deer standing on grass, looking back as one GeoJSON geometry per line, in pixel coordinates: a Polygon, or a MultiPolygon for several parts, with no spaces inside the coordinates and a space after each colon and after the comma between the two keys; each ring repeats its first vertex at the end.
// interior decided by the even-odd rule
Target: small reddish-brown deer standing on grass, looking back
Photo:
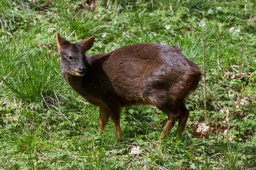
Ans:
{"type": "Polygon", "coordinates": [[[201,70],[179,48],[159,43],[138,43],[117,50],[86,56],[92,36],[71,43],[56,34],[61,71],[66,82],[88,102],[99,107],[102,133],[109,117],[117,137],[122,107],[152,105],[168,116],[164,138],[178,120],[181,133],[189,116],[185,98],[201,79],[201,70]]]}

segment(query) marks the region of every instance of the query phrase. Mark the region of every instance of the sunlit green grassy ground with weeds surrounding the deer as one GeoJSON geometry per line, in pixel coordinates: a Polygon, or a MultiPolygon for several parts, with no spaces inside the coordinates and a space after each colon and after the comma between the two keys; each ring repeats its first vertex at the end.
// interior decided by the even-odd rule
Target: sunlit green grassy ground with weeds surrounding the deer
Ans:
{"type": "Polygon", "coordinates": [[[1,0],[0,169],[255,169],[255,14],[254,0],[1,0]],[[166,115],[146,106],[122,110],[122,140],[112,121],[98,135],[98,109],[60,75],[57,31],[95,35],[89,54],[159,42],[205,63],[185,133],[160,139],[166,115]]]}

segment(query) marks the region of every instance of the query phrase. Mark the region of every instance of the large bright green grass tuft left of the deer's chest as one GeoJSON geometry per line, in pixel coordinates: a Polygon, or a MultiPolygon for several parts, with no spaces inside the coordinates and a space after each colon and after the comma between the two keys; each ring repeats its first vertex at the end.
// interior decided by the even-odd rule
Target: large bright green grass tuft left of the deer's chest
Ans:
{"type": "Polygon", "coordinates": [[[41,101],[54,96],[54,90],[61,84],[60,73],[56,71],[57,60],[48,51],[30,51],[25,57],[26,60],[12,69],[11,76],[1,78],[4,85],[24,101],[41,101]]]}

